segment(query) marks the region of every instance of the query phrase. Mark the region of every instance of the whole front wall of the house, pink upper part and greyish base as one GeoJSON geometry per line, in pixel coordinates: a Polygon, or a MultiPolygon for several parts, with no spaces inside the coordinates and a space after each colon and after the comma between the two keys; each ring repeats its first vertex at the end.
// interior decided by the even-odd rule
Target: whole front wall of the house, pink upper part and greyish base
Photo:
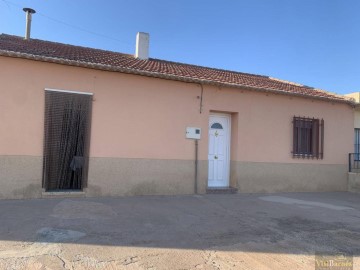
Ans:
{"type": "Polygon", "coordinates": [[[239,192],[343,191],[353,148],[349,105],[0,57],[0,198],[41,197],[44,89],[94,94],[87,196],[192,194],[207,186],[210,112],[232,115],[231,185],[239,192]],[[324,159],[297,159],[292,118],[325,121],[324,159]]]}

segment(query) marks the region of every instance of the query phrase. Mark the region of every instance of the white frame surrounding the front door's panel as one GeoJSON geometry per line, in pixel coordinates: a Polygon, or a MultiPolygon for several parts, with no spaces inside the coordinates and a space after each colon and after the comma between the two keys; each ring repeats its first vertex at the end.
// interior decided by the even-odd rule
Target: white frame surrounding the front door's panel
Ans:
{"type": "MultiPolygon", "coordinates": [[[[230,187],[230,149],[231,149],[231,114],[228,113],[217,113],[217,112],[210,112],[209,114],[209,120],[208,120],[208,155],[209,155],[209,146],[210,146],[210,141],[209,141],[209,131],[210,131],[210,119],[211,117],[222,117],[222,118],[226,118],[227,121],[227,144],[226,144],[226,161],[227,161],[227,165],[225,167],[226,169],[226,183],[223,187],[230,187]]],[[[208,166],[209,166],[209,158],[208,158],[208,166]]],[[[209,170],[208,170],[209,173],[209,170]]],[[[209,188],[209,175],[207,177],[207,187],[209,188]]],[[[210,187],[210,188],[216,188],[216,187],[210,187]]]]}

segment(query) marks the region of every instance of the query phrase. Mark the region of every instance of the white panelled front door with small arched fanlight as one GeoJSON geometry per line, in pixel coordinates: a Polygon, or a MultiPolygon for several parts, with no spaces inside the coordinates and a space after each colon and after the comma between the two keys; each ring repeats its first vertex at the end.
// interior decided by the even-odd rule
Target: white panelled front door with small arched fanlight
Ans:
{"type": "Polygon", "coordinates": [[[210,115],[208,160],[208,187],[228,187],[230,174],[230,115],[210,115]]]}

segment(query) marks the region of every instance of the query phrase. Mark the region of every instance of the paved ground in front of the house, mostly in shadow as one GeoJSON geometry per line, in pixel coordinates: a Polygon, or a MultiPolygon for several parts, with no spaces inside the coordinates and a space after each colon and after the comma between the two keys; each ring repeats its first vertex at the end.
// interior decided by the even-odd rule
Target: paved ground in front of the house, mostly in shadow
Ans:
{"type": "Polygon", "coordinates": [[[360,195],[0,201],[0,269],[360,269],[360,195]]]}

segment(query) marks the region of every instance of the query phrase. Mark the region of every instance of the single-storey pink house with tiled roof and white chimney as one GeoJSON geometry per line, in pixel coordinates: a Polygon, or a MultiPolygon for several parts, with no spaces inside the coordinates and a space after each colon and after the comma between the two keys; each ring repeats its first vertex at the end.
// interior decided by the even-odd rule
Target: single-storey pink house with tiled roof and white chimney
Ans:
{"type": "Polygon", "coordinates": [[[353,101],[149,58],[148,38],[0,35],[0,198],[347,190],[353,101]]]}

